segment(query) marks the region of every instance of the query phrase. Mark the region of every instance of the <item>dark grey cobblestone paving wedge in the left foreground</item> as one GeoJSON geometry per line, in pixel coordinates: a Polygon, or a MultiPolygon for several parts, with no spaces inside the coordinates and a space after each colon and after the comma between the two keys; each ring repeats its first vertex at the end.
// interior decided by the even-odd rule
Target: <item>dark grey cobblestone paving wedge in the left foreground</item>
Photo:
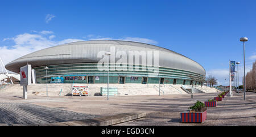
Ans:
{"type": "Polygon", "coordinates": [[[76,113],[34,104],[0,102],[0,125],[42,125],[94,118],[96,115],[76,113]]]}

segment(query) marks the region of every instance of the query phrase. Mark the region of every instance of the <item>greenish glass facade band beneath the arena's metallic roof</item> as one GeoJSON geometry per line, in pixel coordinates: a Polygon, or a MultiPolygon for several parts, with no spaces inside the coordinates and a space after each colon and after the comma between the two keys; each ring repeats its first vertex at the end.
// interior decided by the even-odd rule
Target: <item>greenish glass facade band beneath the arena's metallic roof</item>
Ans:
{"type": "MultiPolygon", "coordinates": [[[[32,68],[36,71],[37,83],[46,83],[44,67],[46,66],[32,68]]],[[[98,66],[97,63],[72,63],[47,67],[49,68],[47,71],[48,83],[58,83],[59,79],[61,79],[61,83],[108,82],[108,68],[98,66]],[[103,70],[104,68],[105,70],[103,70]]],[[[163,84],[174,84],[174,79],[176,79],[176,84],[183,84],[184,80],[185,84],[191,84],[191,78],[193,78],[194,80],[197,79],[197,83],[193,82],[193,84],[200,85],[200,79],[204,79],[204,76],[167,67],[155,68],[143,65],[120,65],[117,67],[109,64],[109,83],[156,84],[159,78],[164,79],[163,84]],[[123,70],[118,71],[118,68],[123,70]]]]}

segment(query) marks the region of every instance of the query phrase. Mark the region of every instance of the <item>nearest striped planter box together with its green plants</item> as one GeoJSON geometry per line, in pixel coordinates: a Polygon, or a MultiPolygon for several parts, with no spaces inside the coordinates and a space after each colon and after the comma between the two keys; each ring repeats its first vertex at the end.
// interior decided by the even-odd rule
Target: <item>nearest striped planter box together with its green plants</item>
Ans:
{"type": "Polygon", "coordinates": [[[181,122],[201,123],[207,118],[207,108],[203,102],[197,100],[195,105],[188,108],[188,112],[180,113],[181,122]]]}

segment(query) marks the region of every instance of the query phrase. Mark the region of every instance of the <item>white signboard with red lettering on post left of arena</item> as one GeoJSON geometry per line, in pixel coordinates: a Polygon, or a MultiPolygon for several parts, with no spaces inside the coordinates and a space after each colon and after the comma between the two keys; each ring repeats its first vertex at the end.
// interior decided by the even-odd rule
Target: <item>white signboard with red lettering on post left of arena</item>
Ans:
{"type": "Polygon", "coordinates": [[[31,65],[20,67],[20,85],[31,84],[31,65]]]}

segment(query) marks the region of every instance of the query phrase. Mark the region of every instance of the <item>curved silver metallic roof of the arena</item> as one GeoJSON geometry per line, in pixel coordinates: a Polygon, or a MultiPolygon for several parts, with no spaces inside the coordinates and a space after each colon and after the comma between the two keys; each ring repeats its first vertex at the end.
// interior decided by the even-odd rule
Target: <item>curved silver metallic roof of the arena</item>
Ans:
{"type": "MultiPolygon", "coordinates": [[[[27,65],[27,62],[29,62],[32,67],[65,63],[97,63],[101,59],[97,57],[98,52],[102,50],[110,52],[111,46],[115,47],[115,51],[125,51],[127,55],[129,55],[129,51],[147,52],[158,50],[159,65],[161,67],[191,71],[205,76],[204,67],[184,55],[159,46],[119,40],[79,41],[52,46],[51,48],[38,50],[15,59],[8,63],[6,68],[13,72],[19,72],[20,67],[27,65]]],[[[152,54],[152,57],[154,57],[154,52],[152,54]]],[[[118,59],[116,58],[115,61],[118,59]]]]}

